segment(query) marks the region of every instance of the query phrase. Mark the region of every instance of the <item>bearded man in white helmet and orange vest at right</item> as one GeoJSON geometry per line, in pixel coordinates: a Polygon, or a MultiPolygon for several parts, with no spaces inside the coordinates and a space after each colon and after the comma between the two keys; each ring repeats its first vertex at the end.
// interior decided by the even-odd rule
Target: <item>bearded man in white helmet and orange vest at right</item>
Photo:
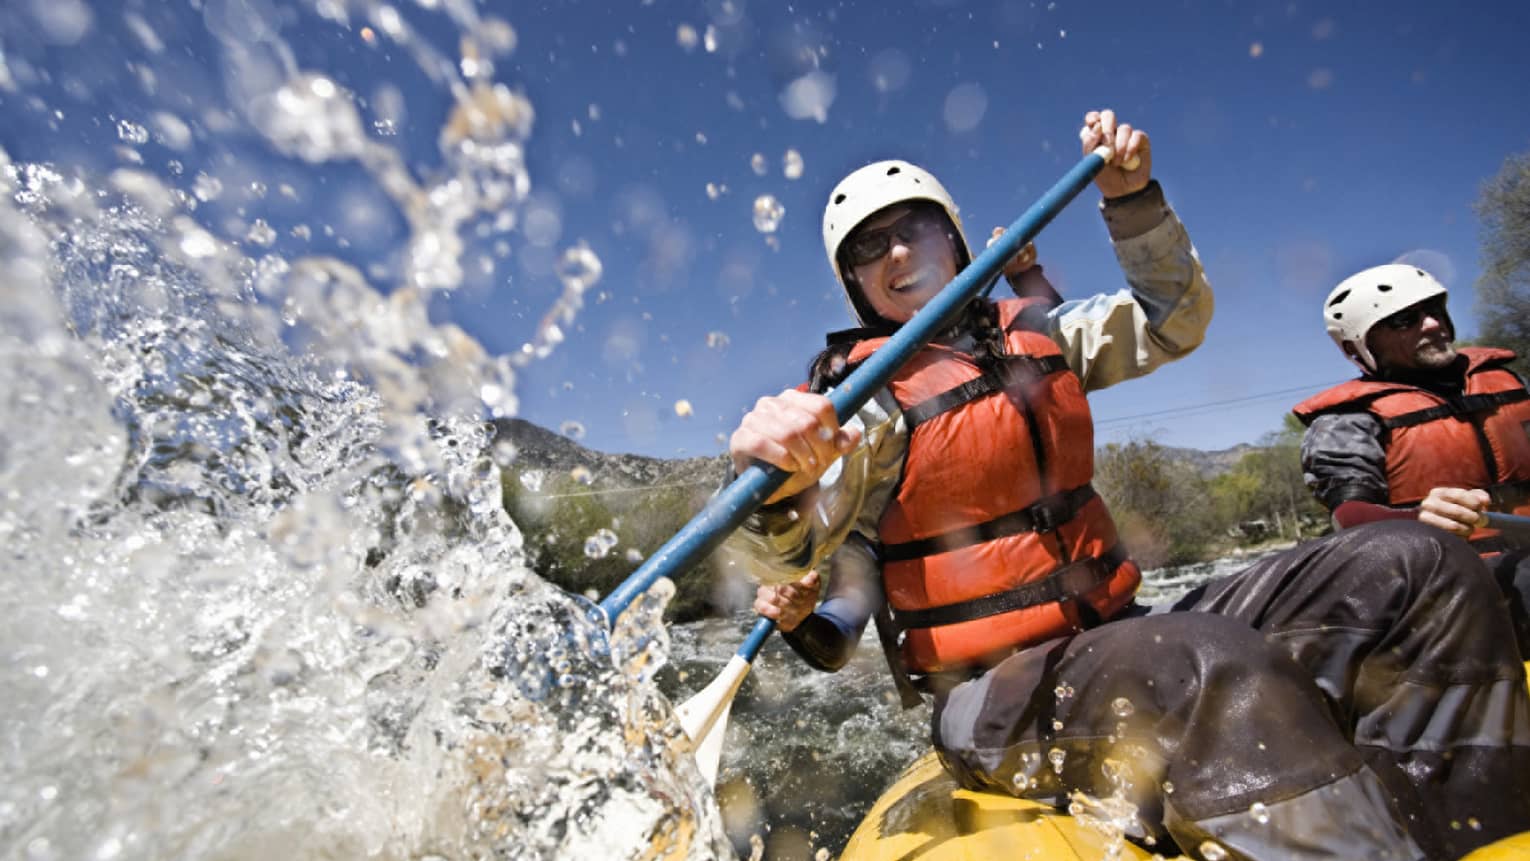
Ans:
{"type": "Polygon", "coordinates": [[[1467,538],[1493,569],[1530,648],[1530,546],[1486,512],[1530,514],[1530,390],[1512,350],[1454,346],[1446,289],[1403,263],[1345,278],[1328,335],[1363,372],[1296,405],[1307,485],[1346,529],[1412,520],[1467,538]]]}

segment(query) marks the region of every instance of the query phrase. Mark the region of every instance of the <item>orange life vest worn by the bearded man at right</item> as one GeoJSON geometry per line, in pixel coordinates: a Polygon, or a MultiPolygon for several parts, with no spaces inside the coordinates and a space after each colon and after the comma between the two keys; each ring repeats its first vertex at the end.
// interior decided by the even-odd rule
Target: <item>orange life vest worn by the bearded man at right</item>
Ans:
{"type": "MultiPolygon", "coordinates": [[[[1504,367],[1510,350],[1463,347],[1466,388],[1441,398],[1405,382],[1351,379],[1293,410],[1304,424],[1322,413],[1365,410],[1383,427],[1391,505],[1418,505],[1432,488],[1486,489],[1493,511],[1530,514],[1530,390],[1504,367]]],[[[1472,541],[1495,538],[1478,529],[1472,541]]]]}

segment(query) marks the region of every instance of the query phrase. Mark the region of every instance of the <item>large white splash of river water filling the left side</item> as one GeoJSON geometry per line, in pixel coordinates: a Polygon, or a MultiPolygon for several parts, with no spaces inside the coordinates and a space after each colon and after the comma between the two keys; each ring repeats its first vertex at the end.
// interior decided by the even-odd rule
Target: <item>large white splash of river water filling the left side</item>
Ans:
{"type": "MultiPolygon", "coordinates": [[[[607,635],[588,601],[529,572],[483,422],[513,414],[514,362],[428,315],[430,294],[461,283],[465,228],[529,190],[531,106],[485,80],[513,35],[441,3],[462,34],[451,61],[381,3],[205,9],[213,38],[197,38],[249,96],[223,116],[294,164],[360,168],[409,245],[384,291],[294,252],[266,222],[202,220],[197,205],[225,194],[216,177],[188,171],[188,193],[139,159],[101,176],[0,153],[0,537],[14,572],[0,590],[0,846],[730,853],[653,685],[672,587],[607,635]],[[297,69],[271,23],[352,15],[451,99],[428,180],[367,135],[335,78],[297,69]],[[259,75],[240,67],[256,47],[275,58],[259,75]]],[[[104,18],[73,23],[78,50],[113,43],[90,29],[104,18]]],[[[156,127],[188,127],[161,113],[156,127]]],[[[558,271],[554,323],[600,275],[586,252],[558,271]]]]}

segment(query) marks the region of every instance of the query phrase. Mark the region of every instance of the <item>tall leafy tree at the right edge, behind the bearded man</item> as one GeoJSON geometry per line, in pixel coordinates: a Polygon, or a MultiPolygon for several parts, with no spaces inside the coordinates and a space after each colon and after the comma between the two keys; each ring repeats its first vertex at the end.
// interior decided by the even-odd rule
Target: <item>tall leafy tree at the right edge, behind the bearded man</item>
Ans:
{"type": "Polygon", "coordinates": [[[1510,156],[1476,197],[1483,274],[1476,280],[1476,343],[1519,353],[1530,372],[1530,153],[1510,156]]]}

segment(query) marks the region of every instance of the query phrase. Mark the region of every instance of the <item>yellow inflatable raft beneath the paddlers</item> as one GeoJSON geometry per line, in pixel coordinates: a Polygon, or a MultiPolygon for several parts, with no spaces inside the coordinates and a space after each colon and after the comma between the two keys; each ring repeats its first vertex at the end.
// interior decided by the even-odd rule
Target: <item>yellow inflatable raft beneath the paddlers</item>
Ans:
{"type": "MultiPolygon", "coordinates": [[[[1114,844],[1117,853],[1109,855],[1111,835],[1050,804],[959,789],[935,752],[929,752],[877,800],[851,835],[840,861],[1154,858],[1131,843],[1117,840],[1114,844]]],[[[1484,846],[1463,861],[1530,861],[1530,832],[1484,846]]]]}

